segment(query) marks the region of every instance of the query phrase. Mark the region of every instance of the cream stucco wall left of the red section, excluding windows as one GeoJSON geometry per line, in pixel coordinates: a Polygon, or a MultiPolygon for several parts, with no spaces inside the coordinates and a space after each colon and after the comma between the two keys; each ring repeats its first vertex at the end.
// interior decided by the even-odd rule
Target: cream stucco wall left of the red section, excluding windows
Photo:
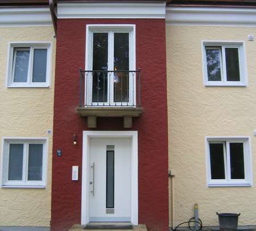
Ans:
{"type": "MultiPolygon", "coordinates": [[[[0,188],[0,225],[49,226],[51,216],[53,93],[55,39],[52,27],[0,28],[0,149],[2,137],[48,137],[45,189],[0,188]],[[9,41],[52,41],[52,72],[49,88],[6,88],[9,41]]],[[[1,153],[2,158],[2,153],[1,153]]],[[[2,166],[1,169],[2,171],[2,166]]]]}

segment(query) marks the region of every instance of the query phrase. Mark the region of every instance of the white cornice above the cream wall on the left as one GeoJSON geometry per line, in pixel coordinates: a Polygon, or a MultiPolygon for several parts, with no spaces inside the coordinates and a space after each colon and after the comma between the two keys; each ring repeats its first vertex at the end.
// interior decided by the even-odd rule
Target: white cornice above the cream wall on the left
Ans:
{"type": "Polygon", "coordinates": [[[51,26],[49,8],[0,8],[0,27],[51,26]]]}

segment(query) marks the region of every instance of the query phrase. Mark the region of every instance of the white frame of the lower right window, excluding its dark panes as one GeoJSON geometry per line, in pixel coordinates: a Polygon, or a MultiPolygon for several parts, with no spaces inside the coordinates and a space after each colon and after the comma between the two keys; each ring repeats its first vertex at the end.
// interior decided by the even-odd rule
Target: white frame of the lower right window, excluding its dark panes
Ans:
{"type": "Polygon", "coordinates": [[[206,153],[206,167],[207,167],[207,186],[208,187],[228,187],[228,186],[252,186],[253,173],[251,162],[251,141],[249,136],[233,136],[233,137],[205,137],[205,153],[206,153]],[[243,143],[243,158],[245,165],[245,179],[230,179],[230,156],[229,143],[242,142],[243,143]],[[224,144],[224,165],[225,165],[225,179],[211,179],[210,170],[210,143],[224,144]],[[225,146],[226,144],[226,146],[225,146]]]}

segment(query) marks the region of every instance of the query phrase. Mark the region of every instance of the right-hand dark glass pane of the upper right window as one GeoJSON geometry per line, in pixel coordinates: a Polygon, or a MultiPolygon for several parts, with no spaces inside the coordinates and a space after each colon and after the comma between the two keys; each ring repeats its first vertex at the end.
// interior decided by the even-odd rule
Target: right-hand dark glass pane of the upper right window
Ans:
{"type": "Polygon", "coordinates": [[[225,48],[226,80],[240,81],[238,48],[225,48]]]}

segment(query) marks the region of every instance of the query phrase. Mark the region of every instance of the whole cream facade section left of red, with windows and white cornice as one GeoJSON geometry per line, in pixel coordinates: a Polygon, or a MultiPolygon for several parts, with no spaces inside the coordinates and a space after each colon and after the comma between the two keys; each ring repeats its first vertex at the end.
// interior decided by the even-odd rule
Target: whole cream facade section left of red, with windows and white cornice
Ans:
{"type": "Polygon", "coordinates": [[[0,226],[51,221],[55,38],[48,6],[0,9],[0,226]]]}

